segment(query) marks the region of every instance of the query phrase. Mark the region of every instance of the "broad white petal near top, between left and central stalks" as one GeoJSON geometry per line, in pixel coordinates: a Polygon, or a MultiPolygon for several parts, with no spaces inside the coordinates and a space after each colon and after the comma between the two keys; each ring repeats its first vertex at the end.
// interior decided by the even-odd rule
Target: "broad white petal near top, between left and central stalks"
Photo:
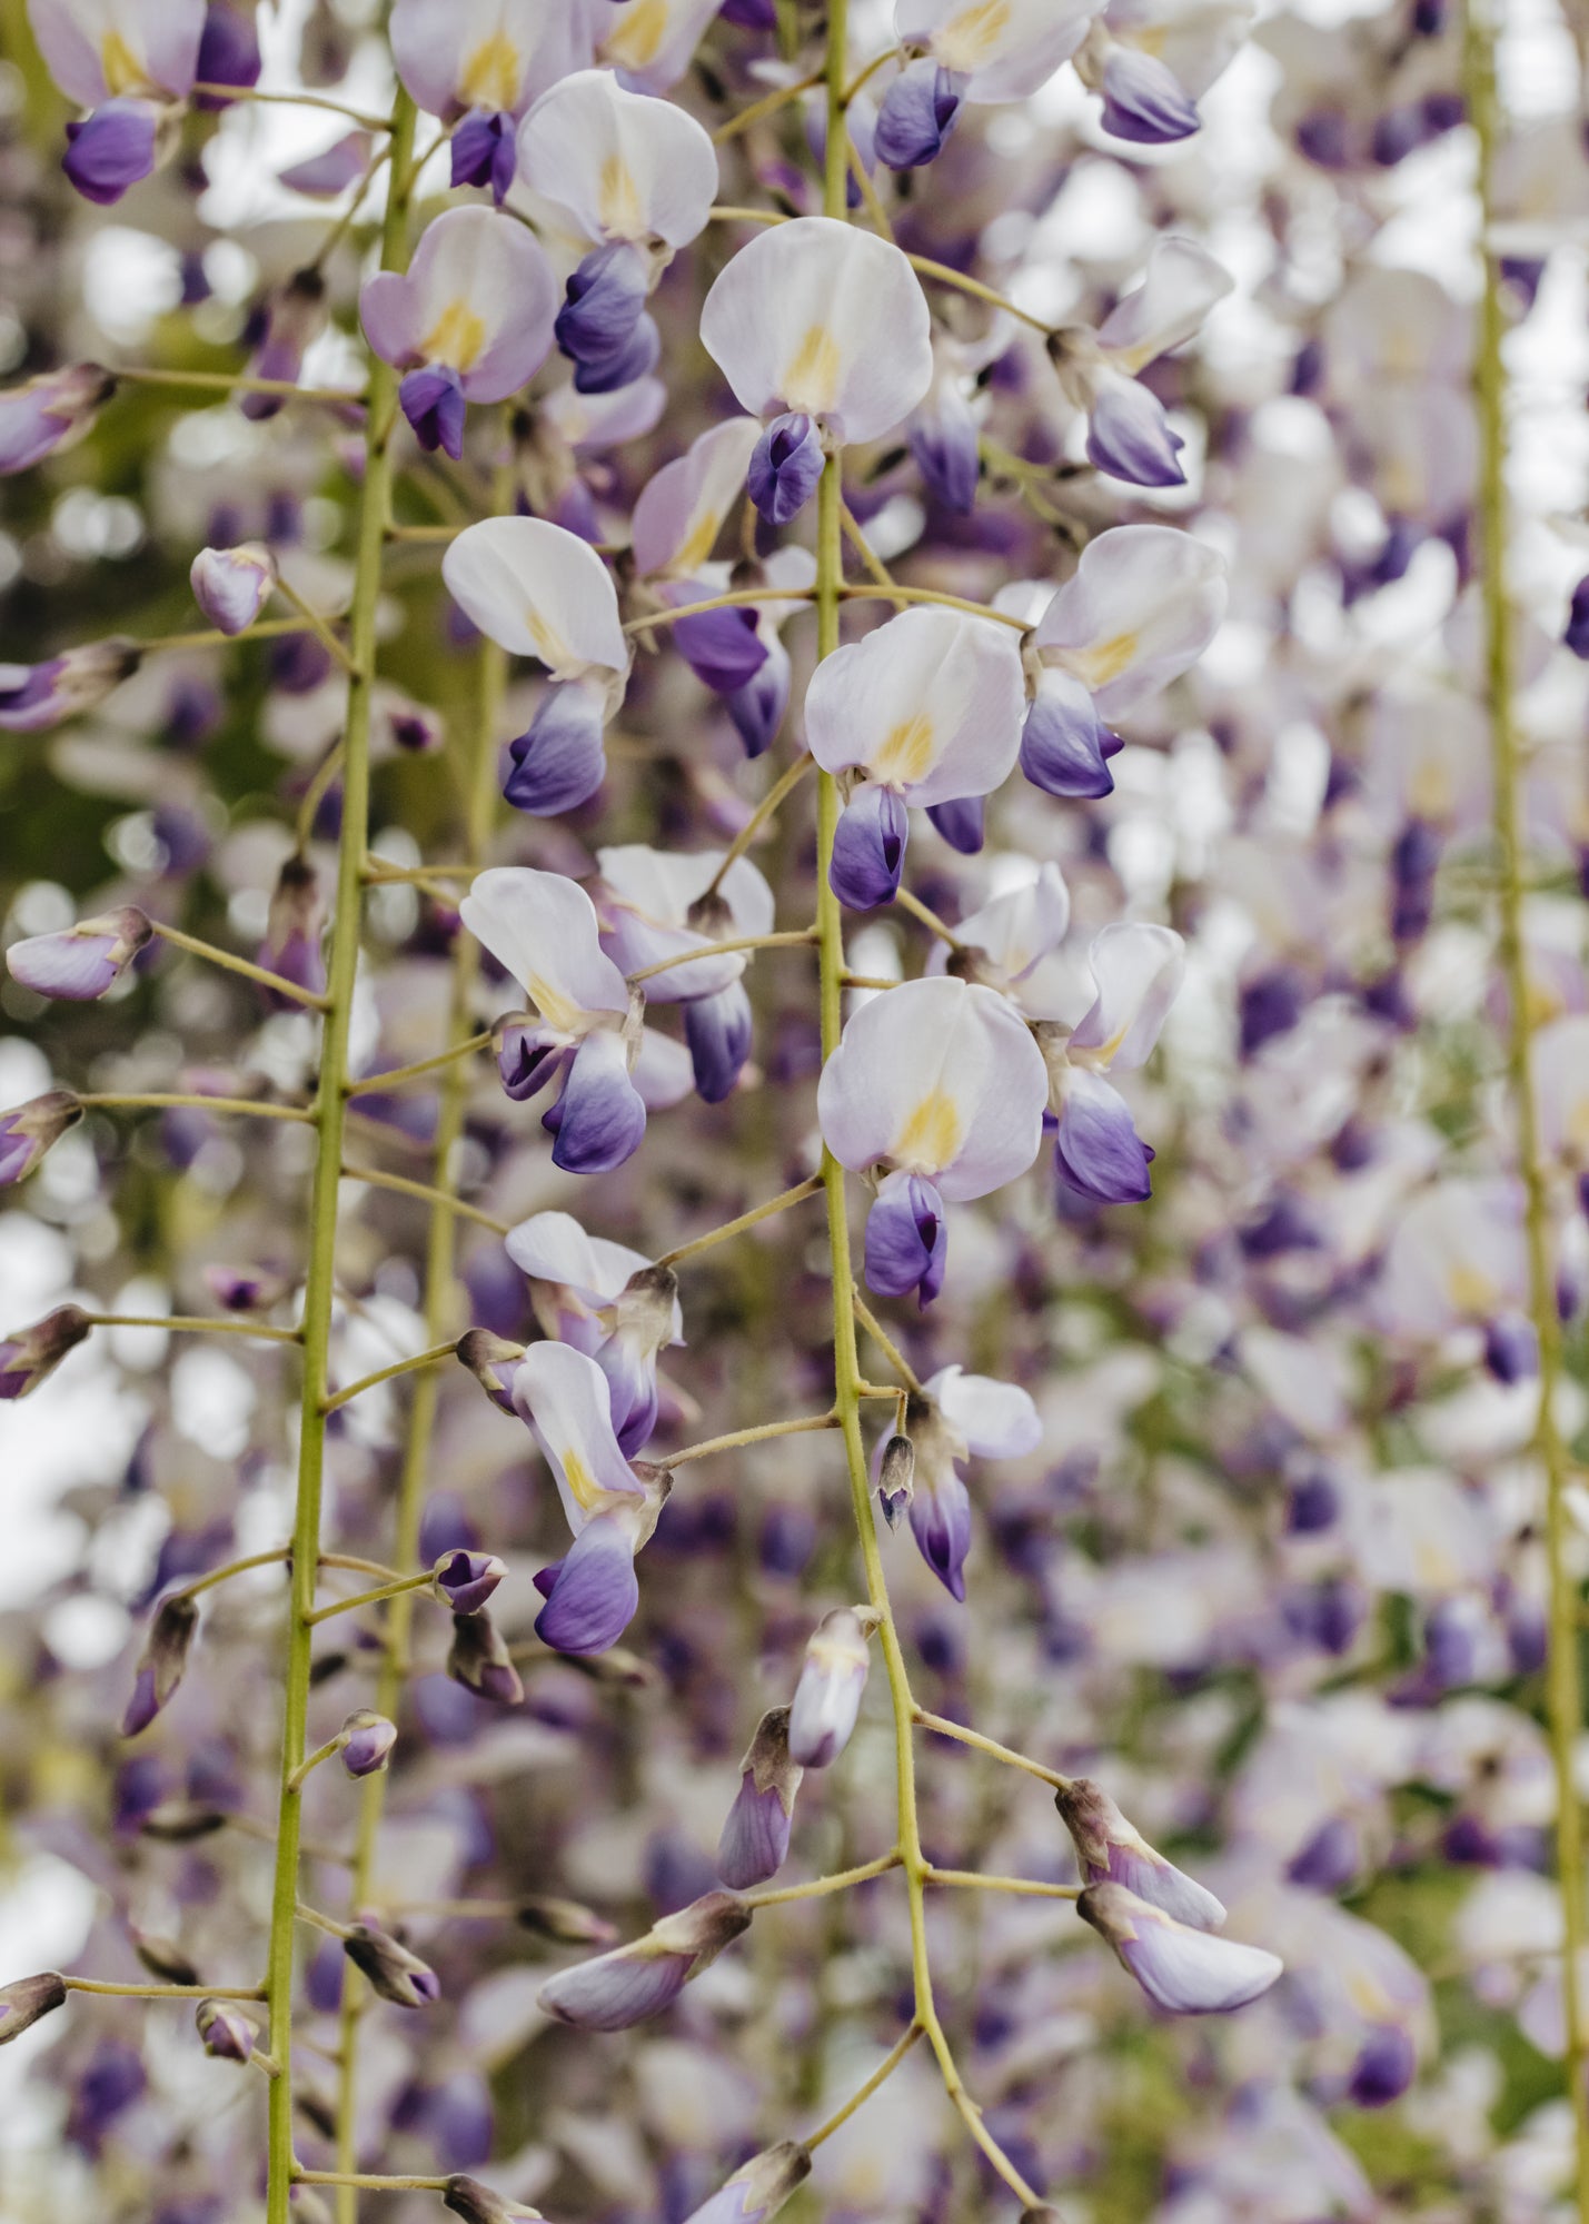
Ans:
{"type": "Polygon", "coordinates": [[[688,247],[717,198],[717,149],[672,100],[579,69],[519,125],[519,176],[592,240],[688,247]]]}

